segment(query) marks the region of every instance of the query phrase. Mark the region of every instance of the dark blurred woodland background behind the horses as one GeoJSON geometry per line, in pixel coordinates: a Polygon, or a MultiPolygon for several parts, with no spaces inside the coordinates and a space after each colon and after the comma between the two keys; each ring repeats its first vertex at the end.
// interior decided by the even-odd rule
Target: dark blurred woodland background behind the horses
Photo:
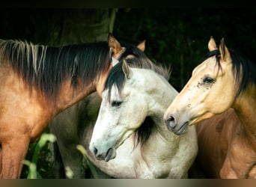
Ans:
{"type": "MultiPolygon", "coordinates": [[[[256,61],[255,19],[256,8],[0,8],[0,38],[60,46],[107,40],[112,32],[120,43],[146,40],[144,52],[171,67],[169,82],[180,91],[208,52],[210,36],[256,61]]],[[[40,157],[41,176],[54,178],[49,146],[40,157]]]]}

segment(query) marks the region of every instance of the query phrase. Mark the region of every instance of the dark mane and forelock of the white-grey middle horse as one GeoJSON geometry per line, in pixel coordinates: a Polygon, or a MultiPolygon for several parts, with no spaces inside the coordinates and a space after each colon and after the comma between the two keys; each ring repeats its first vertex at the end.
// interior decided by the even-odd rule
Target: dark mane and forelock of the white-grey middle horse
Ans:
{"type": "MultiPolygon", "coordinates": [[[[170,69],[165,67],[162,64],[153,64],[149,58],[141,52],[135,46],[126,46],[126,51],[122,54],[121,58],[119,59],[120,63],[116,64],[115,67],[112,68],[109,72],[109,76],[106,79],[105,90],[109,88],[109,99],[111,95],[111,90],[113,85],[116,85],[118,91],[121,92],[125,82],[125,75],[122,70],[122,64],[124,62],[124,58],[126,58],[126,63],[129,67],[141,68],[141,69],[148,69],[153,70],[154,72],[158,73],[161,76],[164,76],[166,80],[170,77],[170,69]],[[126,58],[127,54],[132,54],[135,58],[126,58]]],[[[150,117],[146,117],[144,123],[135,130],[135,144],[143,145],[145,141],[150,137],[151,130],[153,128],[153,120],[150,117]]]]}

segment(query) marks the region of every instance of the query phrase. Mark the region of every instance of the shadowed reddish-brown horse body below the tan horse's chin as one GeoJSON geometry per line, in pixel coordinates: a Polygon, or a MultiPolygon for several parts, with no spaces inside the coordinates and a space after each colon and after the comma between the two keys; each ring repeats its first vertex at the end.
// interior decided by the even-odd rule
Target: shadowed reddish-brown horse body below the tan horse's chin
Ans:
{"type": "MultiPolygon", "coordinates": [[[[204,178],[220,178],[220,171],[225,173],[229,170],[224,163],[231,156],[234,144],[241,146],[241,152],[248,152],[248,146],[243,146],[247,144],[246,134],[233,108],[202,120],[195,127],[198,134],[198,155],[189,171],[192,178],[198,178],[198,171],[204,178]]],[[[253,148],[249,152],[249,155],[256,156],[253,148]]]]}

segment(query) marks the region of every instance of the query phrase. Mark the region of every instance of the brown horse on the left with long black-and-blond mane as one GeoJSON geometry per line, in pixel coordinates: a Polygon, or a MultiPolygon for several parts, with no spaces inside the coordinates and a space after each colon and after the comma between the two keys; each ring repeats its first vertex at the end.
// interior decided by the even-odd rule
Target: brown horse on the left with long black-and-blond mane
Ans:
{"type": "Polygon", "coordinates": [[[19,178],[28,145],[56,114],[102,92],[122,52],[112,34],[108,42],[60,47],[0,40],[1,178],[19,178]]]}

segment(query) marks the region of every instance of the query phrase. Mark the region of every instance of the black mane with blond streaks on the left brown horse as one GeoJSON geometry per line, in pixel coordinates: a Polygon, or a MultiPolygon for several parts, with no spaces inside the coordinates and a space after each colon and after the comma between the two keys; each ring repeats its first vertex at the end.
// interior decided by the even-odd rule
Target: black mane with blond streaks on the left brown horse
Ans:
{"type": "Polygon", "coordinates": [[[107,42],[54,47],[0,40],[0,54],[1,63],[9,63],[30,90],[36,88],[48,99],[56,99],[65,79],[71,79],[75,90],[79,78],[85,85],[92,82],[112,61],[107,42]]]}

